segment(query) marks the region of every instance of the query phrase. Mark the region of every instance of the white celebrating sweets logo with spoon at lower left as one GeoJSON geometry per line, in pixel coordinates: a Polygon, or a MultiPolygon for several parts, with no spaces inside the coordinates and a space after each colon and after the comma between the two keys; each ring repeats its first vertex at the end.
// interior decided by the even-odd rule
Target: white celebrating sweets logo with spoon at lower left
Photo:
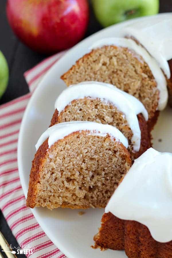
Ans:
{"type": "MultiPolygon", "coordinates": [[[[1,247],[2,249],[2,247],[1,247]]],[[[7,253],[12,253],[12,254],[24,254],[24,255],[27,255],[27,254],[33,254],[34,251],[35,251],[35,247],[30,247],[29,245],[21,245],[18,246],[18,247],[12,247],[12,245],[8,246],[6,245],[5,247],[5,250],[1,250],[2,252],[7,252],[7,253]]]]}

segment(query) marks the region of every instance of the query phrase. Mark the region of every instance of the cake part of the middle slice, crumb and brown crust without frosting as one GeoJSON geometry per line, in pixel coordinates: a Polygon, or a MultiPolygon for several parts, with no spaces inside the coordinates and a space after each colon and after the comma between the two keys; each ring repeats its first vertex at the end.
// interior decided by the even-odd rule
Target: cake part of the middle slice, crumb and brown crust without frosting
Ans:
{"type": "Polygon", "coordinates": [[[114,104],[103,101],[99,98],[93,99],[85,97],[83,99],[75,99],[64,110],[58,114],[55,110],[51,120],[51,126],[54,124],[69,121],[92,121],[100,124],[109,124],[115,126],[128,139],[128,151],[131,159],[138,158],[145,150],[150,148],[150,133],[147,123],[142,114],[137,116],[140,130],[141,143],[139,152],[135,152],[132,144],[133,132],[126,120],[125,115],[120,112],[114,104]]]}

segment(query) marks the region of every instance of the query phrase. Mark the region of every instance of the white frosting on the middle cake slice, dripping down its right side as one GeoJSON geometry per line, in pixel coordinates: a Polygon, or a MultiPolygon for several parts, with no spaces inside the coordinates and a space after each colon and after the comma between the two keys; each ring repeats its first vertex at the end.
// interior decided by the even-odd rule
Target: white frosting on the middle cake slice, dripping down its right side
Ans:
{"type": "Polygon", "coordinates": [[[59,114],[64,108],[74,99],[83,99],[84,97],[91,97],[93,99],[99,98],[106,103],[110,102],[118,108],[124,115],[130,126],[133,136],[132,144],[134,151],[139,151],[141,132],[137,119],[137,115],[142,113],[145,120],[148,120],[148,112],[144,105],[132,95],[114,87],[114,85],[87,81],[71,85],[58,96],[55,102],[55,108],[59,114]]]}

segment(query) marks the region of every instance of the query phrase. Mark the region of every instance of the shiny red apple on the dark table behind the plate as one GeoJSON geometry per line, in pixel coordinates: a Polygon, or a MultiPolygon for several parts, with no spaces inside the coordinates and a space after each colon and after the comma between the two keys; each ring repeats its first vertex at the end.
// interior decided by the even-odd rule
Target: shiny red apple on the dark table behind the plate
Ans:
{"type": "Polygon", "coordinates": [[[87,29],[87,0],[8,0],[14,33],[33,50],[50,53],[70,48],[87,29]]]}

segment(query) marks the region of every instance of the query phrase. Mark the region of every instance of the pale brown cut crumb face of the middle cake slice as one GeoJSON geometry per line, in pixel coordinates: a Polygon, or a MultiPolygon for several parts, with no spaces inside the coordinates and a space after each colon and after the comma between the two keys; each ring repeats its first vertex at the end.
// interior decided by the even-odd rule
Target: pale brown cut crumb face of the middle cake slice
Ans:
{"type": "Polygon", "coordinates": [[[133,136],[125,115],[112,103],[101,101],[99,98],[85,97],[73,100],[58,114],[56,123],[69,121],[93,121],[100,124],[109,124],[118,128],[127,139],[131,140],[133,136]]]}

